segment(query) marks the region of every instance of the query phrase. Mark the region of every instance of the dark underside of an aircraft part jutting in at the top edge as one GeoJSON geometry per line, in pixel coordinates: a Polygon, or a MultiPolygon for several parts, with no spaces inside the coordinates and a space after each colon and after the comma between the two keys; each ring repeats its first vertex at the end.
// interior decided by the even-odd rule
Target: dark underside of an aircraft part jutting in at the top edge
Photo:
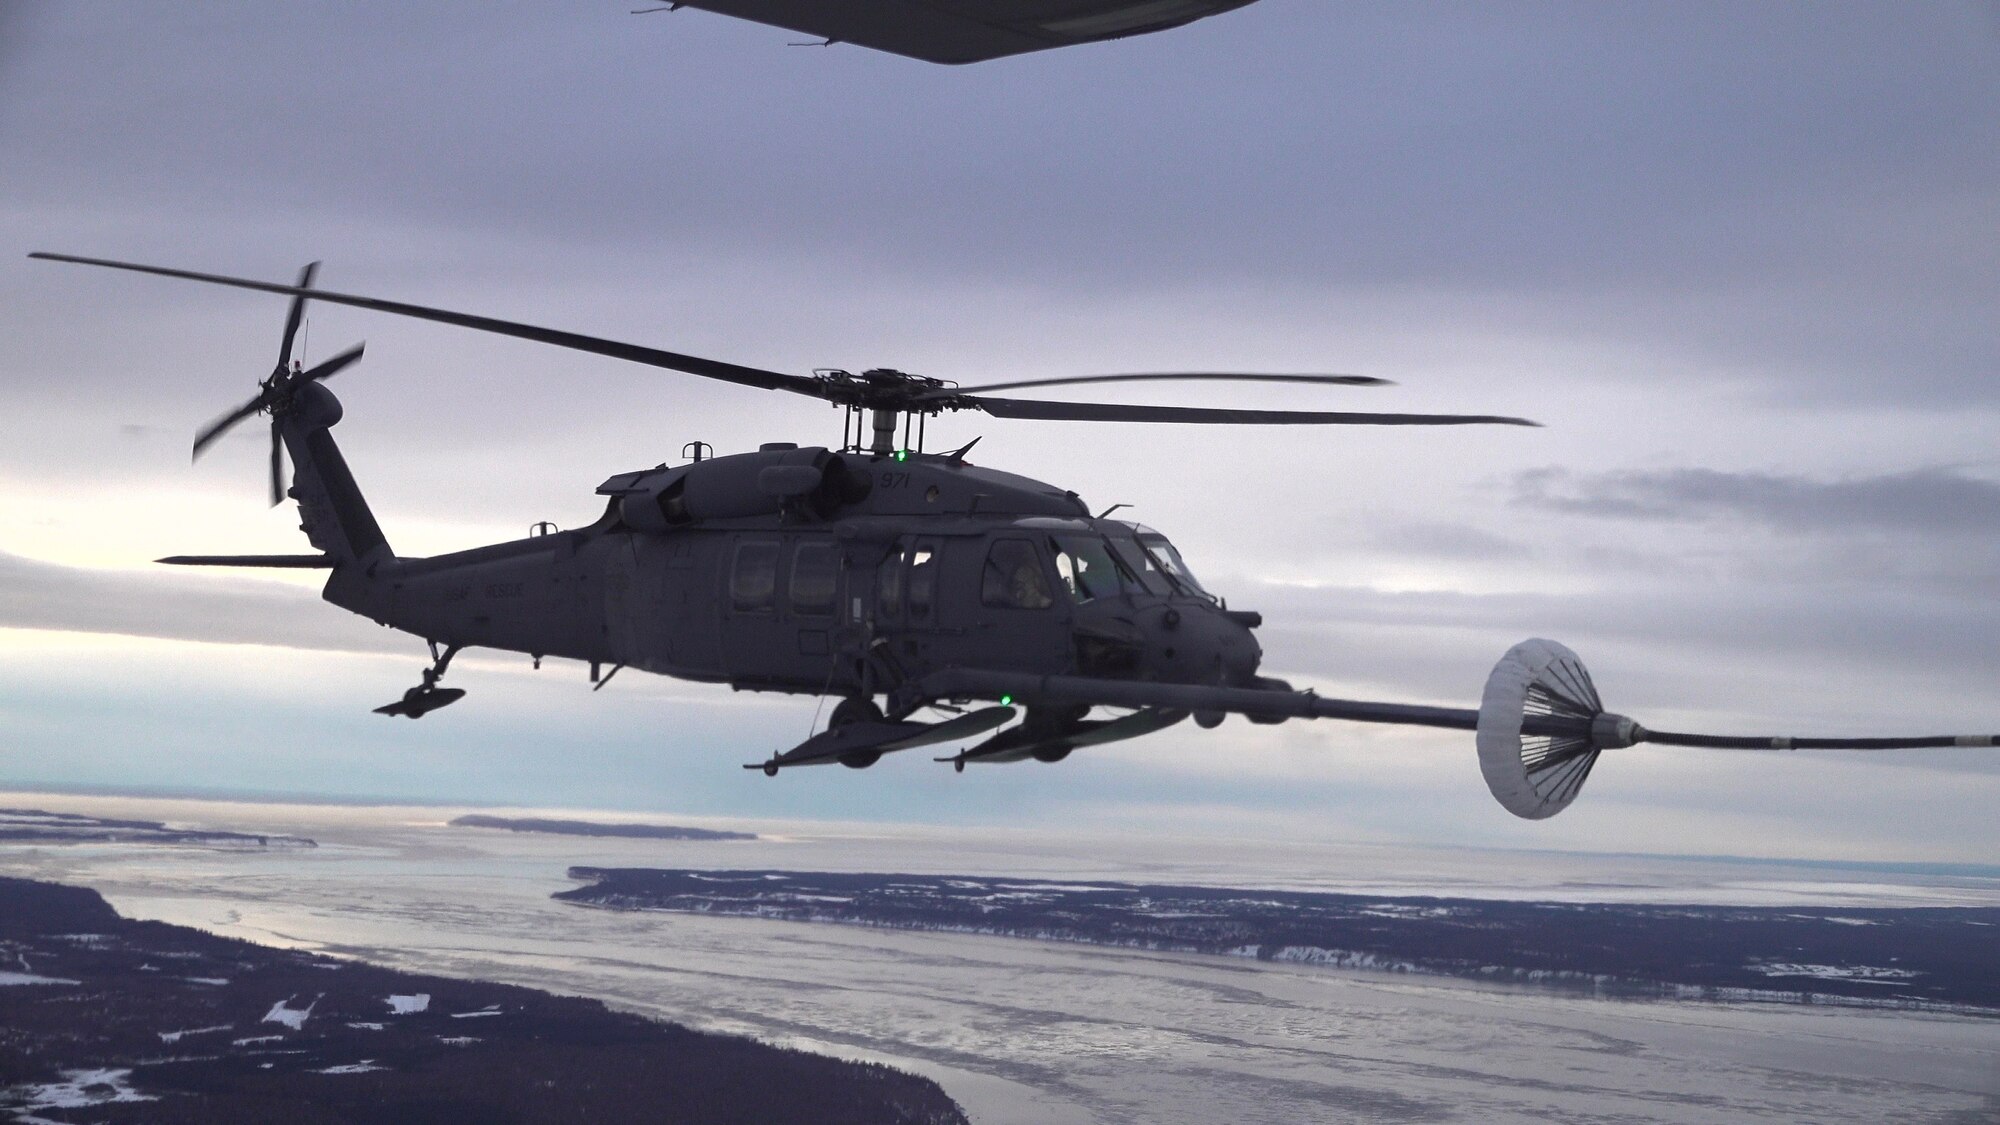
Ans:
{"type": "Polygon", "coordinates": [[[924,62],[984,62],[1080,42],[1164,32],[1254,0],[686,0],[828,42],[924,62]]]}

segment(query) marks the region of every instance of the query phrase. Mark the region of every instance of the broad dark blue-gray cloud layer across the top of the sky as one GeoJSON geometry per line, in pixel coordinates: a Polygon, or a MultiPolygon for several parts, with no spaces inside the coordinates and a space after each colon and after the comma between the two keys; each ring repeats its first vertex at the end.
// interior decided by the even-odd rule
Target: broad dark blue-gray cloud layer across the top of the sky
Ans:
{"type": "Polygon", "coordinates": [[[970,70],[614,8],[40,16],[0,78],[0,198],[80,250],[464,282],[518,268],[506,242],[636,284],[688,254],[816,278],[766,318],[856,272],[1058,304],[1288,286],[1332,318],[1398,292],[1784,396],[2000,394],[1974,8],[1266,2],[970,70]]]}

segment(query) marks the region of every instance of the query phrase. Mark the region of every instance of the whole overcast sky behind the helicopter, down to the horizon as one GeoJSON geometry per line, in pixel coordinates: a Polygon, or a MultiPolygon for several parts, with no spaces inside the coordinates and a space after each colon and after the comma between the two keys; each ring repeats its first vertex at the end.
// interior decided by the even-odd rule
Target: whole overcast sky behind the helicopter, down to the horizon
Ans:
{"type": "MultiPolygon", "coordinates": [[[[60,250],[442,304],[754,366],[964,382],[1354,370],[1144,400],[1526,414],[1260,432],[952,416],[1130,502],[1266,671],[1472,705],[1556,637],[1724,733],[2000,731],[2000,6],[1260,0],[944,68],[630,4],[0,0],[0,783],[1602,851],[1986,861],[2000,755],[1634,749],[1556,821],[1470,739],[1330,723],[966,771],[736,769],[806,699],[462,661],[306,585],[254,390],[284,302],[60,250]]],[[[612,472],[838,412],[316,308],[406,554],[588,522],[612,472]]],[[[1142,398],[1134,394],[1134,398],[1142,398]]]]}

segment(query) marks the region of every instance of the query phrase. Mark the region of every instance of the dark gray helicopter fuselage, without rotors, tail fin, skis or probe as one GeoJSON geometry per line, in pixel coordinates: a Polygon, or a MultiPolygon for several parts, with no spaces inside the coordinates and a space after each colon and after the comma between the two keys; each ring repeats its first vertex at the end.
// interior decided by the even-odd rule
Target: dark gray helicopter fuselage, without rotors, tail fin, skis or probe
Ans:
{"type": "Polygon", "coordinates": [[[342,569],[326,599],[450,647],[752,691],[872,697],[952,667],[1256,683],[1254,615],[1040,480],[770,444],[598,492],[592,526],[342,569]]]}

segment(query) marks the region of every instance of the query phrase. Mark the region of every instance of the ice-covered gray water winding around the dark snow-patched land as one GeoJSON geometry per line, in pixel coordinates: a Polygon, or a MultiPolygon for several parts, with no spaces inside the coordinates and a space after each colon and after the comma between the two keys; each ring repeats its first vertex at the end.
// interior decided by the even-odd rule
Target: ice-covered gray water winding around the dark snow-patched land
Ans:
{"type": "MultiPolygon", "coordinates": [[[[294,833],[310,851],[0,845],[0,873],[130,917],[600,997],[880,1059],[980,1125],[2000,1121],[2000,1021],[1626,1003],[1014,939],[570,907],[568,865],[1182,881],[1578,901],[2000,905],[2000,881],[1646,857],[1052,841],[736,825],[760,841],[450,829],[458,809],[0,795],[0,805],[294,833]],[[1526,877],[1524,871],[1532,871],[1526,877]]],[[[2000,971],[2000,937],[1996,937],[2000,971]]]]}

